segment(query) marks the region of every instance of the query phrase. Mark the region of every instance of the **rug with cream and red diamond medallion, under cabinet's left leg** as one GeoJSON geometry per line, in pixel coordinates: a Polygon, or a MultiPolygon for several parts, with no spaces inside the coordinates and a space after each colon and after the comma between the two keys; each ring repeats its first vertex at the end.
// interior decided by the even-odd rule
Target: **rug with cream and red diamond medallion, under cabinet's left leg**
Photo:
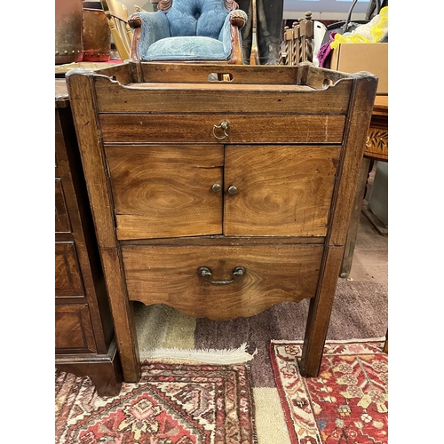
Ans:
{"type": "Polygon", "coordinates": [[[56,370],[56,444],[257,444],[246,364],[144,361],[138,384],[100,398],[56,370]]]}

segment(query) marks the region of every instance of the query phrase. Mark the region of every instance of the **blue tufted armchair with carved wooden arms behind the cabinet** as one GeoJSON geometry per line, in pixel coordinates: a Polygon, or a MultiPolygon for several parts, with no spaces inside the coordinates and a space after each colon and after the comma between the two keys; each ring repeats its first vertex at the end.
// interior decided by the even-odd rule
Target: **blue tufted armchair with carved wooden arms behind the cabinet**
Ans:
{"type": "Polygon", "coordinates": [[[242,65],[247,14],[234,0],[161,0],[157,12],[136,12],[131,59],[242,65]]]}

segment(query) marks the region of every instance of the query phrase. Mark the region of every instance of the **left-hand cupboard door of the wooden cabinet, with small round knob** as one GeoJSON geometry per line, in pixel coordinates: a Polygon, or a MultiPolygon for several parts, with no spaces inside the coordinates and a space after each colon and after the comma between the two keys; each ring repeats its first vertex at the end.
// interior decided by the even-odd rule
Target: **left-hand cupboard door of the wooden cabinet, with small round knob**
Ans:
{"type": "Polygon", "coordinates": [[[221,146],[107,146],[119,240],[222,233],[221,146]]]}

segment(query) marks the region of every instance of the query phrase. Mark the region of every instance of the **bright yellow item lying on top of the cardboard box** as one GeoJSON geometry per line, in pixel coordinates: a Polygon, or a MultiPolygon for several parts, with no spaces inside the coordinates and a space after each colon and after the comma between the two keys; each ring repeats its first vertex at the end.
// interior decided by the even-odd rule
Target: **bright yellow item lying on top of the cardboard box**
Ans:
{"type": "Polygon", "coordinates": [[[330,43],[330,48],[335,49],[339,44],[376,44],[387,32],[388,6],[385,6],[369,23],[361,25],[351,33],[337,33],[335,40],[330,43]]]}

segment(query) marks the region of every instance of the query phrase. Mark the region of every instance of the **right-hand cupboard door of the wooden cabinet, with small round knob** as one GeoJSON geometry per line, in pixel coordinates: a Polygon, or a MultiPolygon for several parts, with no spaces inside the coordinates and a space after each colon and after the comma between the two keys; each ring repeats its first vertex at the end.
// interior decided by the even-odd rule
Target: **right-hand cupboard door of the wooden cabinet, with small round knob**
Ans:
{"type": "Polygon", "coordinates": [[[338,146],[227,146],[224,234],[325,236],[338,146]]]}

